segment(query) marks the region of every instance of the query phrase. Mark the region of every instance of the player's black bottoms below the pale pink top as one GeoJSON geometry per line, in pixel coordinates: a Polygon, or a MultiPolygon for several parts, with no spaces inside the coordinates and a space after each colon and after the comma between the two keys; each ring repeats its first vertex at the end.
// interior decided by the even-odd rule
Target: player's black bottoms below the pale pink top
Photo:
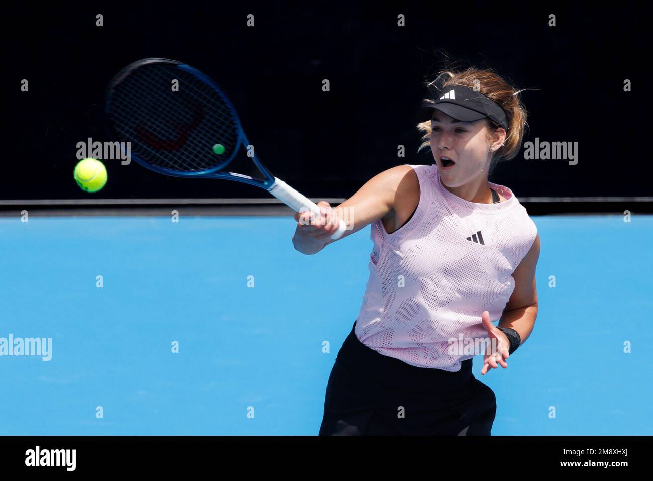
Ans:
{"type": "Polygon", "coordinates": [[[494,391],[471,373],[417,367],[379,354],[354,326],[327,382],[319,435],[490,435],[494,391]]]}

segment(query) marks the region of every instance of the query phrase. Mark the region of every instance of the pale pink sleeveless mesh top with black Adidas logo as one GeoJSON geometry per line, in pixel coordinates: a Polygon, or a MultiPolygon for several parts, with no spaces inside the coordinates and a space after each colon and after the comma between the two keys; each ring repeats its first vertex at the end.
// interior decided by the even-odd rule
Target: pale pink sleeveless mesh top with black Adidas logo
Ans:
{"type": "Polygon", "coordinates": [[[505,201],[473,203],[442,186],[437,165],[410,167],[419,204],[391,234],[381,220],[371,224],[370,277],[355,335],[410,365],[460,371],[473,354],[451,354],[449,339],[486,337],[481,314],[501,317],[537,227],[505,186],[488,182],[505,201]]]}

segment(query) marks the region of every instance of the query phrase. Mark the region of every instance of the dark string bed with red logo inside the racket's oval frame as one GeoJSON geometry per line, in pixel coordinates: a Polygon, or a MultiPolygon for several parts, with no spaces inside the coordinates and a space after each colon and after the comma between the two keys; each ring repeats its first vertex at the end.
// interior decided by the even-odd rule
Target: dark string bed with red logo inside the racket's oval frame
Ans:
{"type": "Polygon", "coordinates": [[[107,109],[114,134],[144,161],[174,171],[204,171],[231,158],[238,127],[213,88],[176,66],[138,67],[114,86],[107,109]],[[172,91],[172,80],[179,91],[172,91]],[[213,146],[221,144],[223,154],[213,146]]]}

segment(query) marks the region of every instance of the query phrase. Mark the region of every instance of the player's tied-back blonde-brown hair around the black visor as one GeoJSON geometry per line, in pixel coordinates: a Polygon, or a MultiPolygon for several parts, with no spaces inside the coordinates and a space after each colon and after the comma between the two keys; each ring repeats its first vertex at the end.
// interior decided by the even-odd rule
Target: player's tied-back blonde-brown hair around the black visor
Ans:
{"type": "MultiPolygon", "coordinates": [[[[524,127],[528,126],[528,122],[526,122],[528,112],[522,103],[520,95],[522,90],[513,88],[511,84],[503,80],[492,69],[477,69],[475,67],[469,67],[463,71],[456,71],[456,69],[451,68],[443,69],[438,73],[436,80],[426,84],[426,88],[428,90],[432,89],[434,91],[433,97],[437,98],[436,93],[451,85],[474,88],[483,93],[483,95],[490,97],[490,99],[498,103],[505,110],[508,128],[506,129],[505,141],[503,141],[504,146],[498,148],[492,154],[490,172],[498,161],[515,158],[522,145],[524,127]]],[[[424,99],[424,101],[434,102],[433,99],[428,98],[424,99]]],[[[496,133],[501,127],[490,118],[486,118],[486,120],[490,124],[490,133],[487,138],[488,141],[492,141],[492,134],[496,133]]],[[[424,133],[422,135],[422,141],[424,142],[417,149],[417,152],[420,152],[424,147],[430,146],[431,144],[430,120],[417,124],[417,129],[424,133]]]]}

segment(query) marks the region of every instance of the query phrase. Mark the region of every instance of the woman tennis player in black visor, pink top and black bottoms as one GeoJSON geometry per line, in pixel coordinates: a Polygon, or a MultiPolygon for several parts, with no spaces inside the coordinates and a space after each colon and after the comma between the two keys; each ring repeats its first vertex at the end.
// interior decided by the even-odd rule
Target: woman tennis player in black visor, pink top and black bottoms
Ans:
{"type": "Polygon", "coordinates": [[[377,174],[336,208],[321,201],[321,217],[295,214],[304,254],[334,242],[338,218],[351,226],[341,239],[371,224],[374,242],[320,435],[490,435],[496,397],[472,358],[483,354],[481,375],[505,369],[534,327],[537,228],[513,191],[488,182],[520,150],[519,91],[473,68],[445,70],[429,86],[437,93],[417,127],[432,165],[377,174]]]}

